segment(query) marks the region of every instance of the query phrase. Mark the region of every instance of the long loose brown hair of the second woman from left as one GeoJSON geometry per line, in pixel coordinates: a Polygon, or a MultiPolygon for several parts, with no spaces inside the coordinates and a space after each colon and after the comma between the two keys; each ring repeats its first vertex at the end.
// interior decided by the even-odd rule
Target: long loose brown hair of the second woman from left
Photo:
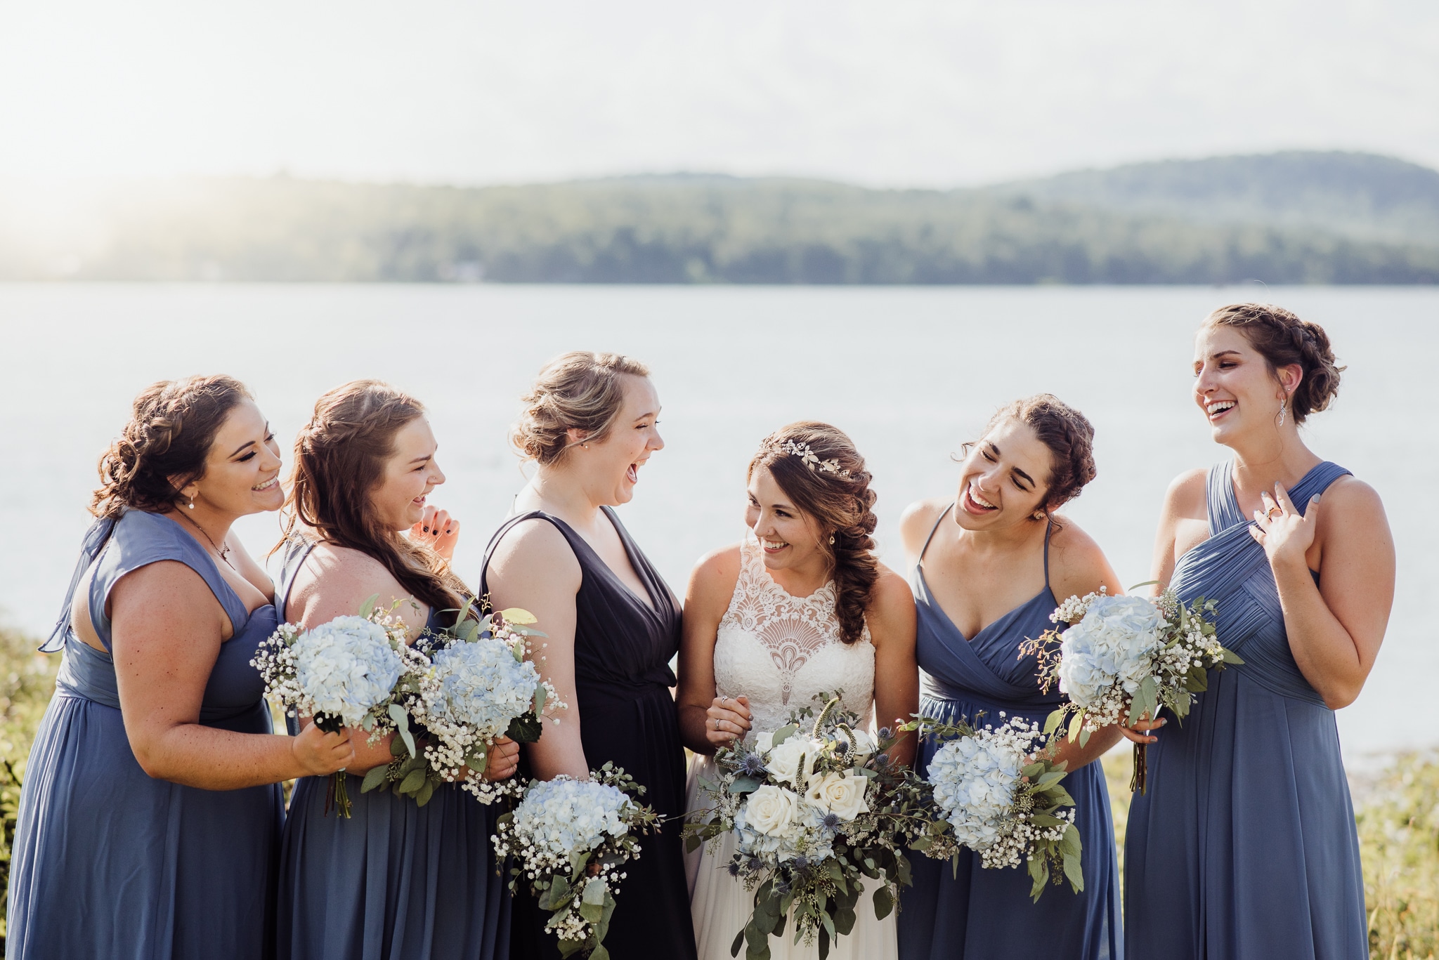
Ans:
{"type": "Polygon", "coordinates": [[[321,396],[295,438],[285,535],[299,522],[328,543],[374,557],[437,612],[462,606],[465,584],[435,550],[387,530],[370,499],[394,453],[394,435],[423,415],[419,400],[378,380],[353,380],[321,396]]]}

